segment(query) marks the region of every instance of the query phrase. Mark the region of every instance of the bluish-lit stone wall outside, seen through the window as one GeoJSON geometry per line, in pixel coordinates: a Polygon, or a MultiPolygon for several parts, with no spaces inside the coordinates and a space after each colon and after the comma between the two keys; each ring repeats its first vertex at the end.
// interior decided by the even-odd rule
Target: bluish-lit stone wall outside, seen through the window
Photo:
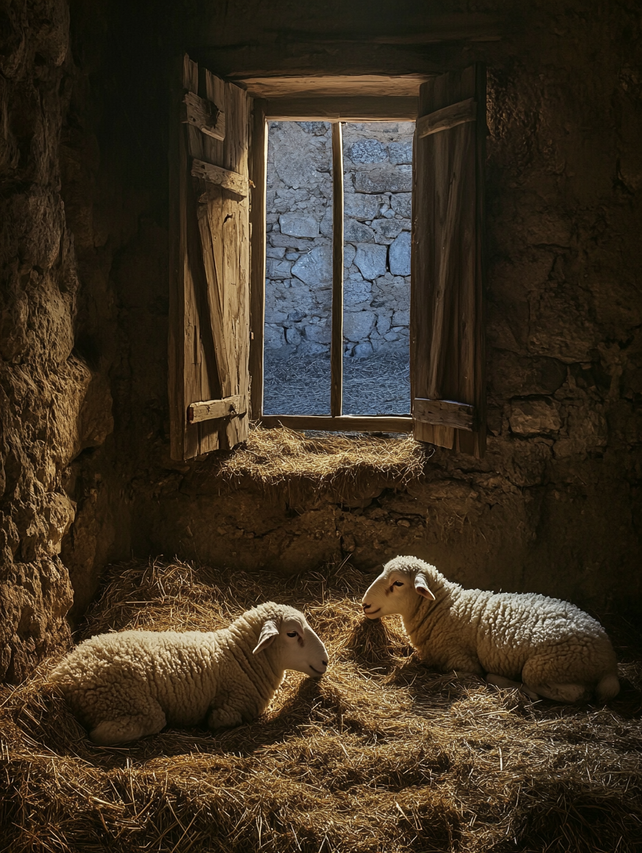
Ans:
{"type": "MultiPolygon", "coordinates": [[[[408,353],[414,125],[344,124],[344,351],[408,353]]],[[[269,129],[268,357],[329,352],[332,142],[326,122],[269,129]]]]}

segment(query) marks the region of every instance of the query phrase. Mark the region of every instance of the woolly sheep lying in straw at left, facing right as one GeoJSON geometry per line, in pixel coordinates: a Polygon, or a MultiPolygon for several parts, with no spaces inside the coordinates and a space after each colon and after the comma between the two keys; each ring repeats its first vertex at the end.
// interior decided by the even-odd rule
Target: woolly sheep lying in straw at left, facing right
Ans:
{"type": "Polygon", "coordinates": [[[320,678],[327,651],[293,607],[252,608],[217,631],[122,631],[75,648],[50,678],[100,746],[166,723],[236,726],[269,705],[285,670],[320,678]]]}

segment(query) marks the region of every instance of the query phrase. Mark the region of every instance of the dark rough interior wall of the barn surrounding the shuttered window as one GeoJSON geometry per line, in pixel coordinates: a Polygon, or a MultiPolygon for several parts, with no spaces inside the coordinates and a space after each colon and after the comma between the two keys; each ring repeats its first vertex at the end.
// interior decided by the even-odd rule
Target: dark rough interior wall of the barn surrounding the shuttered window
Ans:
{"type": "Polygon", "coordinates": [[[71,24],[62,0],[3,12],[4,677],[66,643],[72,594],[73,616],[107,561],[132,554],[295,572],[408,552],[464,583],[639,607],[639,15],[379,5],[277,3],[268,20],[257,2],[75,2],[71,24]],[[457,30],[460,15],[474,26],[457,30]],[[436,450],[420,482],[339,498],[170,460],[165,81],[182,49],[221,74],[488,63],[483,461],[436,450]]]}

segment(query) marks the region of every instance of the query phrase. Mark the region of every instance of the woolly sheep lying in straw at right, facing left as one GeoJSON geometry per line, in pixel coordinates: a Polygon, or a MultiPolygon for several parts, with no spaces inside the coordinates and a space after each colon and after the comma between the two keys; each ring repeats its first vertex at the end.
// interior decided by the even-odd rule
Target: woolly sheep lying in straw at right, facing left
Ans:
{"type": "Polygon", "coordinates": [[[558,702],[593,692],[605,701],[620,690],[604,629],[567,601],[462,589],[423,560],[396,557],[362,606],[369,619],[400,613],[421,658],[444,671],[485,675],[489,684],[558,702]]]}

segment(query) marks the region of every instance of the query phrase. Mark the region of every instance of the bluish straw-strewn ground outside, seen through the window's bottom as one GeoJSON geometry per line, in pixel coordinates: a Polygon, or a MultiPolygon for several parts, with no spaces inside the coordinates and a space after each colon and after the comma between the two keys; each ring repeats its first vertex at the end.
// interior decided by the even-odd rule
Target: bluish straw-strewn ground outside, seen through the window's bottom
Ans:
{"type": "MultiPolygon", "coordinates": [[[[329,415],[330,359],[265,352],[266,415],[329,415]]],[[[408,415],[408,354],[344,358],[344,415],[408,415]]]]}

